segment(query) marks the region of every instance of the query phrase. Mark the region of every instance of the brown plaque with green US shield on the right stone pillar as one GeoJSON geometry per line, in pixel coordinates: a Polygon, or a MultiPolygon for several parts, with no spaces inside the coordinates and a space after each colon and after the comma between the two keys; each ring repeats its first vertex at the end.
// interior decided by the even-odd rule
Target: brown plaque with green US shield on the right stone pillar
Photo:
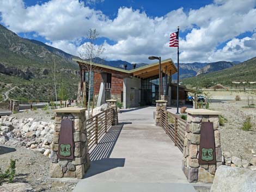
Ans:
{"type": "Polygon", "coordinates": [[[214,124],[202,122],[200,133],[199,164],[216,164],[214,124]]]}

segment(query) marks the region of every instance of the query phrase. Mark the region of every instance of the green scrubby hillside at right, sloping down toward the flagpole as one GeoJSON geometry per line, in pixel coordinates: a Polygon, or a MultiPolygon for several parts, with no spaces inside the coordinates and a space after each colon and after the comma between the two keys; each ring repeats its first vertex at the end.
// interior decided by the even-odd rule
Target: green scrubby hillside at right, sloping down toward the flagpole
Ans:
{"type": "MultiPolygon", "coordinates": [[[[232,82],[256,82],[256,57],[244,61],[239,65],[229,67],[228,69],[210,72],[196,77],[182,79],[185,85],[210,87],[218,83],[225,86],[240,86],[232,82]]],[[[253,87],[256,84],[241,84],[241,86],[253,87]]]]}

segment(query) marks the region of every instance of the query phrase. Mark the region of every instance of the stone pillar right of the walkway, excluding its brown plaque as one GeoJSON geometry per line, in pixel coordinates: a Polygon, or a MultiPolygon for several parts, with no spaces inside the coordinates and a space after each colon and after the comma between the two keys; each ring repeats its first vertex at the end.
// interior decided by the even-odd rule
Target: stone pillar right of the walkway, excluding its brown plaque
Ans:
{"type": "Polygon", "coordinates": [[[218,115],[208,109],[188,109],[187,130],[183,148],[182,170],[190,183],[212,183],[216,168],[222,165],[221,138],[218,115]],[[199,164],[200,132],[202,122],[213,122],[216,164],[199,164]]]}

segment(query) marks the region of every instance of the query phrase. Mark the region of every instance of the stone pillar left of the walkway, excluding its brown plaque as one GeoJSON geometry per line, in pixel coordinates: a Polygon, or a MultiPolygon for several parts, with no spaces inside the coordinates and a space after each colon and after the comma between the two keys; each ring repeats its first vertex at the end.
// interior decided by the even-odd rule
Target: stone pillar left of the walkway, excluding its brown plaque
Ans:
{"type": "Polygon", "coordinates": [[[54,110],[55,127],[52,141],[50,177],[76,177],[83,178],[89,169],[90,158],[86,131],[86,108],[69,107],[54,110]],[[70,119],[73,123],[72,142],[74,158],[58,158],[59,135],[64,128],[61,126],[63,119],[70,119]]]}

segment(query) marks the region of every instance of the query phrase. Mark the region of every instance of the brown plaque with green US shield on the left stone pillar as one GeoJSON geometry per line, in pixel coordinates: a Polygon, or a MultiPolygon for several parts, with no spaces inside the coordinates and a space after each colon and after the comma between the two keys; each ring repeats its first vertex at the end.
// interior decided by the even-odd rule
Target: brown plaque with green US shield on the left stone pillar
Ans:
{"type": "Polygon", "coordinates": [[[73,127],[74,122],[70,119],[62,119],[59,133],[59,159],[74,159],[73,156],[73,127]]]}

